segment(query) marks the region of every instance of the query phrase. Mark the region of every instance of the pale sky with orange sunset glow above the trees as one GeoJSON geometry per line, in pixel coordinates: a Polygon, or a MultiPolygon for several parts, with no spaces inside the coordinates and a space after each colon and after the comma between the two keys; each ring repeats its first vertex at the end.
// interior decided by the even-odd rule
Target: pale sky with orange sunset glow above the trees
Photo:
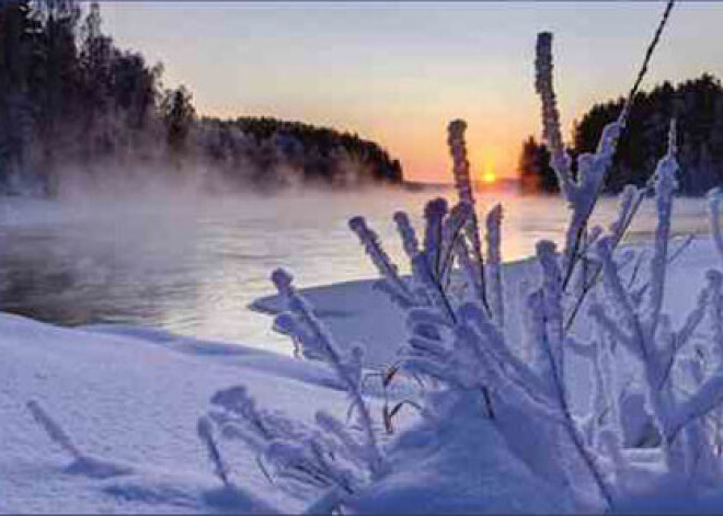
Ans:
{"type": "MultiPolygon", "coordinates": [[[[554,33],[569,136],[627,92],[665,4],[649,2],[102,2],[124,48],[164,65],[200,114],[267,115],[357,133],[416,181],[448,181],[446,127],[468,123],[473,173],[514,176],[539,137],[535,39],[554,33]]],[[[723,2],[679,2],[643,88],[723,79],[723,2]]]]}

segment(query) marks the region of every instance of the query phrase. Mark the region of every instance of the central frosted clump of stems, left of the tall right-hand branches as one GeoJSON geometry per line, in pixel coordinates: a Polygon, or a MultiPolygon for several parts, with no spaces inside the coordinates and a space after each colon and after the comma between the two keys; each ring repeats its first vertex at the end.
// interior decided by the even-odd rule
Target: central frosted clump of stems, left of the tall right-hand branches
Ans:
{"type": "MultiPolygon", "coordinates": [[[[452,124],[458,128],[463,127],[459,121],[452,124]]],[[[459,153],[460,147],[464,146],[458,136],[455,146],[450,146],[455,162],[459,159],[456,153],[459,153]]],[[[455,167],[458,168],[457,164],[455,167]]],[[[460,187],[458,192],[458,206],[470,206],[469,191],[460,187]]],[[[481,250],[479,257],[478,253],[470,253],[470,246],[474,248],[474,243],[470,241],[469,225],[464,227],[464,232],[458,232],[454,238],[440,237],[445,231],[438,228],[457,226],[456,218],[459,217],[454,211],[448,213],[438,200],[431,202],[425,210],[425,245],[411,260],[411,280],[421,294],[417,302],[408,307],[410,336],[402,349],[401,369],[434,379],[436,390],[450,393],[478,392],[484,405],[483,414],[491,421],[495,421],[500,413],[497,401],[504,404],[506,400],[501,398],[513,395],[527,413],[561,428],[564,437],[556,433],[558,440],[550,445],[555,449],[572,446],[577,451],[579,462],[587,468],[600,494],[609,503],[610,488],[594,452],[584,443],[583,432],[570,408],[564,378],[562,275],[554,244],[538,244],[543,283],[528,296],[527,326],[531,332],[528,341],[536,346],[536,353],[541,359],[527,364],[520,359],[519,349],[510,345],[505,336],[500,251],[502,208],[493,207],[486,217],[485,267],[482,266],[481,250]],[[452,289],[440,280],[436,265],[438,262],[431,260],[431,256],[438,255],[439,250],[449,248],[459,265],[452,274],[459,275],[468,287],[462,298],[455,296],[452,289]],[[487,280],[482,282],[480,274],[485,270],[487,280]],[[491,302],[485,306],[485,300],[491,302]]],[[[475,230],[479,231],[479,228],[475,227],[475,230]]],[[[478,240],[482,241],[481,238],[478,240]]],[[[381,245],[378,240],[375,243],[381,245]]],[[[431,406],[427,412],[439,410],[439,406],[431,406]]],[[[567,475],[572,479],[573,470],[567,470],[567,475]]]]}

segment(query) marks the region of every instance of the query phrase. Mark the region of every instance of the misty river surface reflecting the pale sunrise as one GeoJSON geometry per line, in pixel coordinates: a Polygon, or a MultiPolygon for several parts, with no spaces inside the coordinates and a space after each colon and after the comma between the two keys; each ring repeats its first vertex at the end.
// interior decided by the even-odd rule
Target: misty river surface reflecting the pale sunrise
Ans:
{"type": "MultiPolygon", "coordinates": [[[[402,272],[409,270],[392,221],[405,209],[422,228],[424,203],[452,191],[297,191],[214,196],[150,190],[133,196],[62,200],[0,198],[0,310],[64,325],[127,323],[288,353],[272,320],[246,306],[273,294],[275,267],[298,286],[376,277],[351,216],[365,215],[402,272]]],[[[505,206],[505,261],[528,256],[540,239],[560,243],[566,210],[558,197],[480,193],[478,207],[505,206]]],[[[608,223],[615,199],[602,199],[608,223]]],[[[702,199],[679,199],[676,232],[707,231],[702,199]]],[[[652,200],[632,228],[653,228],[652,200]]]]}

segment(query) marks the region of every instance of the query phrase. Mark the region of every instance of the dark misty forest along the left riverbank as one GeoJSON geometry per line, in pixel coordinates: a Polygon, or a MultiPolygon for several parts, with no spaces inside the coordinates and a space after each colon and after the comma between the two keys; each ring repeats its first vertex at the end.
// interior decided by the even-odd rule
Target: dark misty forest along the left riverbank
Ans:
{"type": "Polygon", "coordinates": [[[162,66],[115,46],[101,22],[96,2],[0,1],[0,193],[134,174],[210,188],[401,181],[399,161],[356,135],[199,118],[186,88],[163,88],[162,66]]]}

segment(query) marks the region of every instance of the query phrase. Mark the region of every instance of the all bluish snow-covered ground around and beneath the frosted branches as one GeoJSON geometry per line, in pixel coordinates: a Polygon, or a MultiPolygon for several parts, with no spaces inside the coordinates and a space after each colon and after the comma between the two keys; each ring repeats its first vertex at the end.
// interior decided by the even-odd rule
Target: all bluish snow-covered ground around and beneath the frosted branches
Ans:
{"type": "MultiPolygon", "coordinates": [[[[718,267],[719,261],[712,242],[699,238],[674,262],[666,296],[674,321],[679,322],[684,309],[693,305],[704,271],[718,267]]],[[[512,286],[507,291],[516,291],[515,284],[525,277],[531,279],[533,265],[530,261],[506,267],[505,280],[512,286]]],[[[402,313],[369,282],[305,294],[332,332],[344,335],[341,345],[362,343],[371,365],[393,360],[403,344],[402,313]]],[[[268,298],[254,308],[273,312],[278,306],[268,298]]],[[[509,306],[510,316],[517,311],[509,306]]],[[[579,323],[584,328],[585,319],[579,323]]],[[[214,392],[236,385],[248,386],[260,404],[301,421],[312,421],[320,409],[343,418],[348,408],[337,380],[317,363],[157,330],[64,329],[0,314],[0,512],[4,513],[298,512],[305,503],[269,485],[253,454],[241,446],[225,448],[238,489],[221,489],[197,438],[197,420],[208,410],[214,392]],[[31,401],[62,427],[83,460],[49,439],[26,406],[31,401]]],[[[572,375],[579,377],[584,390],[587,371],[572,375]]],[[[371,383],[367,394],[378,416],[380,392],[371,383]]],[[[403,385],[399,389],[401,397],[403,385]]],[[[408,414],[406,423],[413,417],[408,414]]],[[[391,472],[359,494],[352,509],[579,508],[564,498],[553,477],[533,474],[524,454],[508,450],[489,420],[470,420],[470,425],[449,421],[436,431],[444,437],[434,446],[424,425],[397,434],[402,438],[390,438],[385,446],[391,472]]]]}

